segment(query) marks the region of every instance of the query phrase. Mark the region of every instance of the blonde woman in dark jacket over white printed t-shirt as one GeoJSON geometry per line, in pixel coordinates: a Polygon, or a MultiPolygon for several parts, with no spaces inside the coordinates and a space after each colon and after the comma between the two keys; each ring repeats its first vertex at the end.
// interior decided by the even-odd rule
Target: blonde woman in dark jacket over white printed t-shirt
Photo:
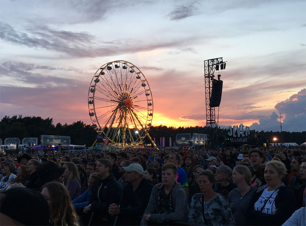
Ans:
{"type": "Polygon", "coordinates": [[[282,183],[285,164],[269,161],[264,170],[267,182],[256,189],[246,216],[246,225],[282,225],[293,214],[296,201],[293,192],[282,183]]]}

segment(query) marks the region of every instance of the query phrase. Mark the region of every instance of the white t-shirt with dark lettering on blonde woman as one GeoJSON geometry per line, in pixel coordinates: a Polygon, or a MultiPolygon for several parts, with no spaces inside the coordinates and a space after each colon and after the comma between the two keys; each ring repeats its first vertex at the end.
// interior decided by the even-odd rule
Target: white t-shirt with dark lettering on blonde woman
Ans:
{"type": "Polygon", "coordinates": [[[257,211],[261,211],[261,208],[265,205],[262,213],[273,214],[276,210],[275,207],[275,197],[278,193],[279,189],[274,191],[268,191],[268,187],[263,190],[263,194],[259,197],[259,199],[254,204],[254,209],[257,211]]]}

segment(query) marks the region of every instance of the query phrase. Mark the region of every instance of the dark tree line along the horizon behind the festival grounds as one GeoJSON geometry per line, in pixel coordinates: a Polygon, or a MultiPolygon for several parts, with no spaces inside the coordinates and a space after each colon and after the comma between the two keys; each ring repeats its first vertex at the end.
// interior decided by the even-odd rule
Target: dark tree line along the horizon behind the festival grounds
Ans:
{"type": "MultiPolygon", "coordinates": [[[[5,116],[0,121],[0,138],[2,143],[4,139],[8,137],[17,137],[20,141],[25,137],[37,137],[40,140],[41,135],[57,135],[57,136],[70,136],[71,144],[86,145],[90,147],[96,139],[97,132],[91,125],[84,124],[83,121],[73,122],[72,124],[65,123],[62,125],[58,123],[54,125],[52,118],[43,119],[41,117],[22,117],[22,115],[14,115],[13,117],[5,116]]],[[[203,133],[211,134],[210,128],[206,126],[195,127],[167,127],[163,125],[151,126],[149,134],[153,139],[155,137],[155,143],[160,143],[160,137],[165,137],[165,146],[169,146],[169,137],[175,141],[178,133],[203,133]]],[[[217,129],[219,136],[219,142],[222,143],[223,134],[227,134],[225,129],[220,127],[217,129]]],[[[256,131],[258,136],[267,137],[269,142],[273,142],[273,138],[276,137],[277,142],[281,142],[281,138],[284,143],[295,142],[297,144],[304,143],[306,141],[306,132],[285,132],[282,134],[279,131],[264,132],[256,131]]],[[[146,137],[144,143],[148,144],[149,139],[146,137]]]]}

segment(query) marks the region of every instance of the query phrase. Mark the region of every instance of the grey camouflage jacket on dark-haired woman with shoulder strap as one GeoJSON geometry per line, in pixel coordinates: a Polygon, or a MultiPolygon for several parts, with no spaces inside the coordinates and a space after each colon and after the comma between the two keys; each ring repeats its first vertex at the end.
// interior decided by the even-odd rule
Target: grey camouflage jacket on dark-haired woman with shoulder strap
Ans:
{"type": "Polygon", "coordinates": [[[202,196],[203,193],[199,193],[192,197],[188,216],[190,223],[202,225],[235,225],[230,205],[220,194],[204,202],[204,220],[202,214],[202,196]]]}

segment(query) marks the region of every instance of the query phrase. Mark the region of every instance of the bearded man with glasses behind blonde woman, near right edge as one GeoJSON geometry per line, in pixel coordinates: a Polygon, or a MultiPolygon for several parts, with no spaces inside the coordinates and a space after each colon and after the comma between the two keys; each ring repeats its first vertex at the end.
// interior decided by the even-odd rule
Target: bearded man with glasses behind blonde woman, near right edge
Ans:
{"type": "Polygon", "coordinates": [[[297,209],[303,206],[303,191],[306,186],[305,180],[301,179],[300,168],[303,157],[294,157],[291,161],[291,171],[294,173],[289,181],[289,188],[293,192],[297,201],[297,209]]]}

